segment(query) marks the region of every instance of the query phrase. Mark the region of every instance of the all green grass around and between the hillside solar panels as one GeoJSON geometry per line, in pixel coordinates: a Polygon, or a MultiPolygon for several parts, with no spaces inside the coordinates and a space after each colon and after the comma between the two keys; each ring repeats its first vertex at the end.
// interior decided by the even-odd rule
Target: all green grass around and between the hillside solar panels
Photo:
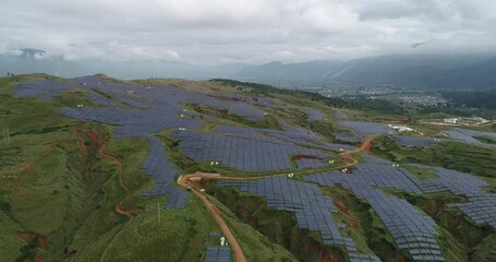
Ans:
{"type": "MultiPolygon", "coordinates": [[[[40,254],[44,261],[62,258],[65,261],[99,261],[105,250],[108,250],[107,261],[203,261],[206,246],[218,243],[218,239],[209,237],[208,233],[220,231],[203,203],[192,195],[184,210],[165,210],[167,195],[140,196],[143,189],[152,188],[154,183],[140,169],[149,152],[145,139],[113,141],[110,140],[110,126],[89,123],[83,128],[83,131],[92,130],[110,140],[105,151],[123,163],[123,177],[131,191],[126,195],[119,182],[116,165],[98,156],[97,146],[88,138],[71,136],[80,121],[59,114],[63,106],[93,106],[86,91],[71,88],[50,102],[12,96],[15,84],[28,79],[47,78],[66,81],[44,74],[0,78],[0,127],[8,127],[11,133],[11,143],[0,141],[0,261],[31,261],[35,253],[40,254]],[[87,152],[77,147],[78,139],[88,146],[87,152]],[[53,150],[39,157],[48,152],[50,145],[53,150]],[[26,163],[33,163],[32,168],[16,171],[26,163]],[[11,175],[19,177],[4,177],[11,175]],[[134,218],[116,213],[119,203],[124,210],[130,210],[134,218]],[[49,247],[43,249],[22,240],[16,236],[17,230],[46,236],[49,247]]],[[[227,86],[219,87],[215,82],[176,82],[187,84],[189,88],[202,85],[202,88],[214,92],[222,88],[234,91],[227,86]]],[[[251,87],[246,88],[240,92],[250,93],[251,87]]],[[[230,110],[209,106],[186,104],[185,107],[219,118],[199,119],[204,123],[203,132],[215,132],[219,124],[280,129],[279,121],[285,121],[312,129],[331,142],[332,133],[342,130],[332,126],[332,109],[325,106],[330,102],[312,100],[311,94],[306,95],[309,97],[301,98],[287,93],[269,94],[276,104],[286,107],[264,108],[268,116],[261,121],[247,120],[230,110]],[[307,121],[309,108],[322,110],[328,120],[307,121]]],[[[378,121],[404,118],[374,111],[352,111],[352,115],[355,119],[378,121]]],[[[428,131],[427,126],[413,124],[428,131]]],[[[441,130],[435,129],[436,132],[441,130]]],[[[166,154],[178,166],[180,174],[197,170],[245,176],[274,174],[242,172],[209,166],[209,163],[195,163],[184,157],[178,142],[171,140],[171,131],[156,135],[168,147],[166,154]]],[[[484,176],[482,178],[489,183],[486,190],[496,192],[495,148],[446,142],[412,150],[401,147],[385,136],[375,141],[374,153],[401,164],[415,162],[484,176]]],[[[435,177],[427,169],[404,166],[421,179],[435,177]]],[[[293,167],[278,172],[294,170],[293,167]]],[[[304,175],[297,175],[293,179],[302,180],[304,175]]],[[[215,181],[210,181],[210,186],[208,192],[219,200],[210,196],[210,201],[221,210],[222,217],[250,261],[347,259],[342,247],[324,246],[318,233],[298,228],[293,213],[270,209],[263,199],[234,189],[216,188],[215,181]]],[[[347,207],[348,214],[335,214],[335,219],[348,225],[341,233],[353,238],[360,251],[376,253],[385,261],[408,258],[408,254],[397,250],[385,226],[366,202],[340,187],[327,188],[324,192],[347,207]]],[[[496,260],[494,229],[475,226],[459,210],[446,207],[446,203],[465,201],[463,198],[443,193],[422,196],[395,191],[389,193],[406,198],[434,217],[440,226],[438,242],[448,261],[496,260]]]]}

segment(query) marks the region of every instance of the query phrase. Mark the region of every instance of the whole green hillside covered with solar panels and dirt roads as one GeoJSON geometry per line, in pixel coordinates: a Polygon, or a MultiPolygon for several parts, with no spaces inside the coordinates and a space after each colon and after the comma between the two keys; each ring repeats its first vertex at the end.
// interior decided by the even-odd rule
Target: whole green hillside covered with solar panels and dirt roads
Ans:
{"type": "Polygon", "coordinates": [[[399,134],[225,80],[32,74],[0,96],[1,261],[496,259],[491,132],[399,134]]]}

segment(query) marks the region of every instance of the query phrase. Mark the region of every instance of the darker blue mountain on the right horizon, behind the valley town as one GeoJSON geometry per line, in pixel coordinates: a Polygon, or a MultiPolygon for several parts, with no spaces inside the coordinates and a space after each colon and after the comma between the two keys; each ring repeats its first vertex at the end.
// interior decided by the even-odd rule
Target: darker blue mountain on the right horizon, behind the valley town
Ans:
{"type": "MultiPolygon", "coordinates": [[[[496,88],[496,58],[487,56],[383,56],[351,61],[270,62],[240,70],[247,81],[390,84],[426,88],[496,88]]],[[[294,86],[298,87],[298,86],[294,86]]]]}

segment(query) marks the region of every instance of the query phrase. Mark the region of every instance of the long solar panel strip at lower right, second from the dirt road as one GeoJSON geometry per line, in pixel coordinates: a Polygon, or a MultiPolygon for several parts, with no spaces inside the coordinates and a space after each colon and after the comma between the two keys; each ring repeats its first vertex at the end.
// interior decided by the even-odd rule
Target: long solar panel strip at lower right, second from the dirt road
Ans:
{"type": "Polygon", "coordinates": [[[305,176],[304,180],[326,187],[339,183],[352,190],[356,198],[371,204],[399,249],[408,250],[415,261],[444,261],[440,247],[436,243],[438,234],[435,222],[406,200],[375,189],[394,188],[421,194],[422,189],[414,182],[419,179],[403,168],[392,167],[390,162],[376,157],[365,159],[367,163],[359,165],[351,175],[328,171],[305,176]]]}

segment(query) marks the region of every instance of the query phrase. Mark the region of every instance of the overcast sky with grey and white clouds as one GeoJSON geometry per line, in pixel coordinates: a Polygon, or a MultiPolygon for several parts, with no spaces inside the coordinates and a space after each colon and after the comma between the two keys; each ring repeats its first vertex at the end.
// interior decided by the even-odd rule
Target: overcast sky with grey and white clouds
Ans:
{"type": "Polygon", "coordinates": [[[0,53],[19,48],[202,64],[494,52],[496,1],[1,0],[0,53]]]}

